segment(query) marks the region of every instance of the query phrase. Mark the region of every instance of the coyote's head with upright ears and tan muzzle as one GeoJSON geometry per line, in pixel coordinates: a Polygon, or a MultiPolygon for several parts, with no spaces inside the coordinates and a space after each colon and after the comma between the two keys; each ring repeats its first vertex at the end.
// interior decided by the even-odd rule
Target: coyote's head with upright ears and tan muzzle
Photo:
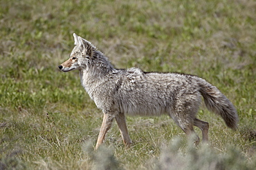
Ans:
{"type": "Polygon", "coordinates": [[[69,72],[71,70],[82,70],[88,66],[89,61],[94,57],[93,54],[96,52],[96,47],[82,39],[82,37],[77,36],[77,34],[73,34],[75,47],[73,48],[70,58],[59,65],[60,70],[62,72],[69,72]]]}

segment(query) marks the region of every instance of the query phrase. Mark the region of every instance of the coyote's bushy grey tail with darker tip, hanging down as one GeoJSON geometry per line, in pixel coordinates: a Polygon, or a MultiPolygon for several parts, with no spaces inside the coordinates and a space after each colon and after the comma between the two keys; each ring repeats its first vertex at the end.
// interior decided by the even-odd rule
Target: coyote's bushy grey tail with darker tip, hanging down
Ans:
{"type": "Polygon", "coordinates": [[[223,118],[226,125],[231,129],[237,129],[238,116],[234,105],[222,94],[217,87],[214,87],[202,78],[199,80],[199,92],[203,96],[206,107],[223,118]]]}

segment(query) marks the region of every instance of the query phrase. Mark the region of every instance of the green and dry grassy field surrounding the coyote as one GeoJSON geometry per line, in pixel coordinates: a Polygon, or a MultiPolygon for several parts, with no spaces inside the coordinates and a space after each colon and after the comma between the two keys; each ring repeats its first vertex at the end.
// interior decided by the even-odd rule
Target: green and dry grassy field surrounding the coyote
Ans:
{"type": "MultiPolygon", "coordinates": [[[[226,1],[0,1],[0,169],[254,169],[256,3],[226,1]],[[192,147],[167,116],[127,117],[93,150],[102,112],[78,72],[58,65],[73,32],[118,68],[196,74],[236,106],[239,129],[202,107],[209,145],[192,147]],[[177,137],[179,136],[179,137],[177,137]]],[[[201,131],[196,129],[201,135],[201,131]]]]}

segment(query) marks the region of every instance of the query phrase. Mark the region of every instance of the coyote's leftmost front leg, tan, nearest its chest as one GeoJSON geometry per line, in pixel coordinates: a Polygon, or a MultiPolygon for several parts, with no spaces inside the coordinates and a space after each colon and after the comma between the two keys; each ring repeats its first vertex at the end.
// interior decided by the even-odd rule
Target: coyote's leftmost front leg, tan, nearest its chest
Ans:
{"type": "Polygon", "coordinates": [[[101,128],[100,128],[100,134],[98,136],[98,140],[97,140],[97,144],[96,144],[95,149],[98,149],[98,147],[102,144],[102,142],[103,142],[103,140],[104,140],[104,138],[107,134],[107,131],[109,131],[109,129],[111,127],[111,124],[113,122],[113,118],[114,118],[113,114],[104,113],[102,125],[101,125],[101,128]]]}

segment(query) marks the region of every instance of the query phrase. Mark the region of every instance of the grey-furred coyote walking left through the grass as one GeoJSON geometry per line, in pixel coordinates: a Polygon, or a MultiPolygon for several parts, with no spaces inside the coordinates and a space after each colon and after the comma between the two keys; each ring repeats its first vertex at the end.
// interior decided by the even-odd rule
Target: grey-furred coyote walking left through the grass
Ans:
{"type": "MultiPolygon", "coordinates": [[[[91,42],[75,33],[73,36],[75,47],[70,58],[59,68],[63,72],[79,70],[82,86],[103,111],[95,149],[102,144],[114,118],[124,144],[131,145],[125,114],[167,114],[188,136],[195,134],[193,125],[199,127],[203,141],[207,141],[209,124],[196,118],[201,96],[206,107],[221,116],[228,127],[237,128],[238,116],[234,105],[203,78],[190,74],[143,72],[134,67],[116,69],[91,42]]],[[[199,142],[198,136],[194,142],[199,142]]]]}

